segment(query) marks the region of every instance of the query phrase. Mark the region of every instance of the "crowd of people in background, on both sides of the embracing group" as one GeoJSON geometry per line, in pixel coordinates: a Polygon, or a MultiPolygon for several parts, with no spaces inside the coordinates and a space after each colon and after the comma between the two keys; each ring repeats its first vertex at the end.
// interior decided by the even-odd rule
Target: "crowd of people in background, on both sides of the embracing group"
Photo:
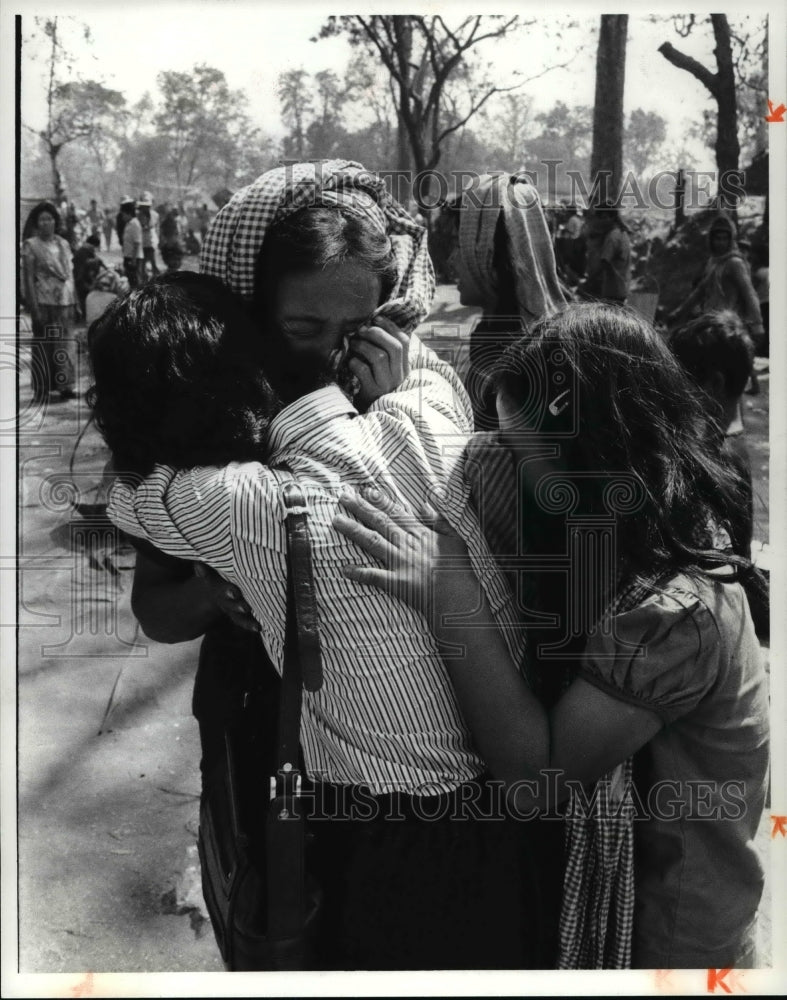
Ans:
{"type": "MultiPolygon", "coordinates": [[[[508,273],[505,262],[509,260],[510,245],[516,250],[519,241],[521,247],[530,247],[531,253],[534,246],[537,249],[541,244],[551,245],[558,287],[537,288],[539,296],[554,302],[629,303],[642,311],[640,303],[635,302],[634,292],[647,267],[646,255],[651,252],[651,244],[659,242],[658,239],[646,241],[643,253],[642,245],[634,245],[631,229],[621,217],[620,209],[609,203],[584,208],[572,202],[539,204],[535,214],[525,211],[524,206],[519,206],[517,211],[511,206],[506,208],[499,201],[499,184],[494,177],[488,175],[486,181],[480,178],[480,186],[477,186],[483,197],[492,201],[498,199],[495,204],[499,204],[499,211],[496,212],[471,211],[471,205],[464,204],[467,199],[463,194],[447,199],[431,211],[419,207],[412,199],[408,204],[410,217],[428,228],[430,253],[438,279],[453,283],[462,270],[474,275],[471,286],[460,284],[459,292],[463,304],[481,306],[484,310],[471,332],[468,373],[468,387],[479,426],[496,425],[488,371],[494,367],[504,346],[521,332],[523,325],[527,325],[530,312],[537,312],[539,306],[538,302],[527,301],[528,296],[532,298],[535,294],[537,286],[531,284],[525,292],[525,279],[508,273]],[[462,208],[466,211],[460,211],[462,208]],[[460,218],[463,219],[461,228],[460,218]],[[526,219],[536,219],[537,232],[532,230],[530,223],[522,222],[526,219]],[[468,261],[468,257],[477,260],[468,261]],[[499,276],[502,280],[497,287],[499,276]],[[511,317],[519,319],[512,325],[511,317]]],[[[478,202],[478,191],[472,199],[473,204],[478,202]]],[[[102,208],[95,198],[90,200],[86,210],[79,210],[73,202],[67,201],[57,207],[54,203],[42,202],[33,209],[23,232],[25,276],[21,293],[31,306],[34,333],[40,329],[38,320],[51,320],[51,312],[47,310],[55,307],[64,329],[71,330],[75,321],[90,325],[116,296],[141,287],[162,272],[180,270],[187,256],[200,253],[214,211],[205,202],[186,209],[168,202],[154,204],[154,200],[152,192],[145,190],[137,198],[123,196],[117,211],[110,206],[102,208]],[[55,248],[59,255],[56,263],[53,260],[55,248]],[[109,253],[118,249],[122,263],[108,264],[101,257],[102,251],[109,253]],[[45,280],[40,278],[44,259],[51,265],[45,280]],[[69,280],[57,289],[51,273],[54,269],[64,274],[68,272],[69,280]],[[39,283],[37,294],[36,282],[39,283]],[[51,299],[58,301],[55,303],[51,299]]],[[[731,310],[743,324],[754,352],[767,357],[767,244],[738,240],[735,223],[724,213],[712,221],[707,239],[707,262],[698,269],[685,301],[669,313],[660,310],[656,314],[657,296],[653,295],[652,311],[648,314],[646,310],[646,318],[655,320],[666,332],[692,315],[709,310],[731,310]]],[[[517,253],[514,252],[510,259],[516,260],[517,253]]],[[[526,260],[521,268],[526,275],[526,260]]],[[[70,335],[66,339],[70,341],[70,335]]],[[[69,398],[73,381],[67,355],[68,352],[57,355],[61,359],[59,367],[47,355],[49,360],[44,365],[47,371],[54,371],[53,365],[57,368],[57,372],[47,379],[55,379],[56,391],[62,393],[63,398],[69,398]]],[[[55,391],[55,383],[48,386],[47,391],[55,391]]],[[[42,391],[37,384],[36,393],[42,391]]],[[[746,391],[759,391],[753,368],[746,391]]]]}

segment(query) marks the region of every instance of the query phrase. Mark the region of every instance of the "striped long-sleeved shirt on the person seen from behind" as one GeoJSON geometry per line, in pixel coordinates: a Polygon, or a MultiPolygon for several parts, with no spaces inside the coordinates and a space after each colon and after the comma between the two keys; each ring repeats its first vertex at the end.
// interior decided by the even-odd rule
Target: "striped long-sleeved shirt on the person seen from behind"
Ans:
{"type": "Polygon", "coordinates": [[[157,466],[136,491],[115,486],[109,513],[124,531],[171,555],[202,560],[236,584],[281,670],[287,574],[281,490],[297,478],[309,507],[324,671],[323,687],[304,694],[307,771],[366,785],[374,794],[433,795],[476,777],[484,765],[426,620],[403,601],[342,575],[342,566],[372,560],[332,527],[338,496],[373,484],[417,509],[439,494],[468,544],[514,662],[521,660],[522,633],[467,502],[461,458],[472,427],[469,400],[450,366],[417,338],[411,343],[410,375],[362,416],[336,386],[320,389],[273,421],[270,465],[157,466]]]}

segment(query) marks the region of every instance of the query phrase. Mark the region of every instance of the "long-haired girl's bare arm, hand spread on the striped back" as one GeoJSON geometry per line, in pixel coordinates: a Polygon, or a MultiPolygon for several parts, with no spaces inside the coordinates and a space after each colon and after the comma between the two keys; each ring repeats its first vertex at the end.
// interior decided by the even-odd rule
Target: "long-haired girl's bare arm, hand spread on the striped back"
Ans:
{"type": "MultiPolygon", "coordinates": [[[[463,543],[448,526],[430,531],[412,517],[391,517],[354,498],[342,503],[357,520],[339,515],[336,528],[388,567],[348,567],[345,574],[426,608],[435,637],[461,645],[460,655],[444,648],[445,666],[481,756],[507,786],[537,781],[546,768],[560,770],[566,779],[596,780],[661,728],[652,709],[581,678],[547,712],[511,659],[482,589],[463,565],[463,543]],[[433,585],[432,573],[445,556],[451,571],[441,570],[439,585],[433,585]],[[463,609],[467,619],[472,616],[466,623],[463,609]]],[[[522,805],[538,798],[521,787],[517,796],[522,805]]]]}

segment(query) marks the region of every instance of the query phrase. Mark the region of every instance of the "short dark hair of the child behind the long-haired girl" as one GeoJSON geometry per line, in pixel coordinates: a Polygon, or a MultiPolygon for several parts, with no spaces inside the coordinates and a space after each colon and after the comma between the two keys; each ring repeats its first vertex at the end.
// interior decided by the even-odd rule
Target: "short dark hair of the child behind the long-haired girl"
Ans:
{"type": "Polygon", "coordinates": [[[703,313],[676,330],[669,346],[697,385],[707,383],[712,372],[721,372],[731,397],[741,395],[754,368],[754,343],[729,309],[703,313]]]}

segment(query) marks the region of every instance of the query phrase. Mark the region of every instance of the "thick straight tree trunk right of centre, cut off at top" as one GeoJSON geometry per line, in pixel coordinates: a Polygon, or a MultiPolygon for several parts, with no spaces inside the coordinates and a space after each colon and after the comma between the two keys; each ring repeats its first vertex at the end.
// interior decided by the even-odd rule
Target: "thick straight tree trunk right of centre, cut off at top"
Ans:
{"type": "Polygon", "coordinates": [[[596,55],[593,152],[590,173],[595,201],[614,201],[623,180],[623,85],[628,14],[602,14],[596,55]]]}

